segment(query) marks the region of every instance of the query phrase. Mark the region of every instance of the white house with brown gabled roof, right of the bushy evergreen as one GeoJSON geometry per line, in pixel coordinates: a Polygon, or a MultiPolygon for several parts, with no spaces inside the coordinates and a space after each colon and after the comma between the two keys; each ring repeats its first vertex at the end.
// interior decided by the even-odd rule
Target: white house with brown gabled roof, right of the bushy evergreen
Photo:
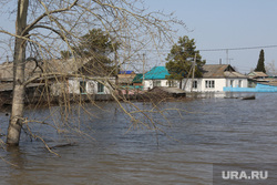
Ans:
{"type": "Polygon", "coordinates": [[[236,72],[229,64],[206,64],[203,66],[203,78],[183,80],[185,91],[223,92],[225,86],[247,88],[247,76],[236,72]]]}

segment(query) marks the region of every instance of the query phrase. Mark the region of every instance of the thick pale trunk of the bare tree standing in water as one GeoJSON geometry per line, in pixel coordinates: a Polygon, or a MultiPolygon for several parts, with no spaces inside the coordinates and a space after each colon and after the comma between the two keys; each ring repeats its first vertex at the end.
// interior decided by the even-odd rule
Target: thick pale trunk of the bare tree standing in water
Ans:
{"type": "Polygon", "coordinates": [[[25,69],[25,40],[23,30],[27,27],[29,0],[18,0],[18,14],[16,23],[16,45],[13,56],[13,96],[12,111],[7,134],[8,145],[18,145],[23,121],[24,109],[24,69],[25,69]]]}

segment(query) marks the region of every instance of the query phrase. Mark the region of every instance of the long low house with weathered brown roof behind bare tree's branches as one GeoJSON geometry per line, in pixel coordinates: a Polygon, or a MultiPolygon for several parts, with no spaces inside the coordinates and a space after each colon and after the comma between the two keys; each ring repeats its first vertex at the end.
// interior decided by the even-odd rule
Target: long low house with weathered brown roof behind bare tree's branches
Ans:
{"type": "MultiPolygon", "coordinates": [[[[25,63],[25,80],[40,76],[27,88],[48,88],[48,92],[58,96],[69,94],[111,94],[115,76],[107,76],[101,66],[94,66],[93,60],[49,60],[25,63]],[[96,69],[96,70],[95,70],[96,69]],[[48,74],[48,75],[45,75],[48,74]]],[[[6,91],[9,85],[11,91],[13,79],[13,63],[6,62],[0,65],[0,91],[6,91]],[[9,83],[3,85],[3,83],[9,83]]],[[[27,93],[31,93],[27,91],[27,93]]],[[[40,95],[40,94],[39,94],[40,95]]]]}

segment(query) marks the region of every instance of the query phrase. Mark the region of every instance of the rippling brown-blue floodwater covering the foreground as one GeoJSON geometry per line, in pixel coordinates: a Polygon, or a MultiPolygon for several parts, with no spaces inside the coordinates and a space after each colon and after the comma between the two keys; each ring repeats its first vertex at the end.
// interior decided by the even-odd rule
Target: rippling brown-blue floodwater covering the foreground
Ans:
{"type": "MultiPolygon", "coordinates": [[[[170,124],[157,124],[164,133],[131,126],[115,103],[100,103],[101,110],[90,107],[92,119],[76,110],[73,114],[80,113],[80,122],[72,132],[80,126],[80,134],[62,137],[45,125],[37,123],[32,127],[50,146],[74,142],[73,146],[54,148],[60,155],[57,156],[22,132],[20,147],[0,151],[0,184],[213,184],[213,163],[276,162],[276,103],[275,93],[256,94],[256,100],[248,101],[209,97],[163,103],[160,110],[171,107],[164,112],[168,122],[161,114],[150,116],[170,124]]],[[[151,103],[135,105],[152,107],[151,103]]],[[[39,120],[49,111],[27,113],[30,120],[39,120]]],[[[45,122],[59,120],[58,115],[52,116],[45,122]]],[[[4,113],[0,114],[1,132],[6,132],[8,120],[4,113]]]]}

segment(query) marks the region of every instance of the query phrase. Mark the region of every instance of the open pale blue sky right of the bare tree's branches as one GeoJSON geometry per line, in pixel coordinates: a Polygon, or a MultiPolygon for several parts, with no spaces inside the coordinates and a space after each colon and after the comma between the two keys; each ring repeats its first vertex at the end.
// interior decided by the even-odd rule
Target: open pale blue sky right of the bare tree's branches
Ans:
{"type": "MultiPolygon", "coordinates": [[[[145,0],[151,10],[175,12],[198,50],[228,50],[232,65],[245,73],[256,68],[261,48],[277,45],[276,0],[145,0]],[[243,48],[243,49],[240,49],[243,48]]],[[[277,47],[264,48],[265,63],[277,62],[277,47]]],[[[208,64],[226,63],[226,50],[201,51],[208,64]]],[[[277,63],[276,63],[277,65],[277,63]]]]}

